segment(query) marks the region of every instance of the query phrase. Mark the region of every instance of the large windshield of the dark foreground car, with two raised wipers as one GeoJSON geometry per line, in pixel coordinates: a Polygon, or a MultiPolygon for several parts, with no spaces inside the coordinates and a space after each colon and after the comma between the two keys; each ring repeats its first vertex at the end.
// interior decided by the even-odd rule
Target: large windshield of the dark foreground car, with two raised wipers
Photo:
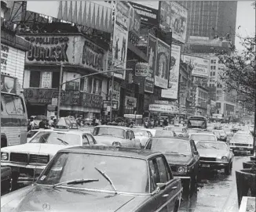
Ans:
{"type": "Polygon", "coordinates": [[[98,181],[69,186],[113,191],[112,185],[97,170],[108,176],[117,192],[149,192],[146,160],[86,153],[58,153],[37,183],[55,185],[76,179],[95,179],[98,181]]]}

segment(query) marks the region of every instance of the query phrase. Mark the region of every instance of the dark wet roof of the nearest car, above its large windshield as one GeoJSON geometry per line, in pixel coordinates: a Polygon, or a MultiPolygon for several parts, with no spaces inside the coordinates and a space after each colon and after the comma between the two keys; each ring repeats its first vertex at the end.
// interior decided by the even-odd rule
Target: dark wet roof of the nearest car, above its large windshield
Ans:
{"type": "Polygon", "coordinates": [[[148,160],[152,156],[163,155],[159,152],[153,152],[148,149],[134,149],[115,146],[75,146],[67,149],[61,149],[59,153],[86,153],[99,155],[125,156],[148,160]]]}

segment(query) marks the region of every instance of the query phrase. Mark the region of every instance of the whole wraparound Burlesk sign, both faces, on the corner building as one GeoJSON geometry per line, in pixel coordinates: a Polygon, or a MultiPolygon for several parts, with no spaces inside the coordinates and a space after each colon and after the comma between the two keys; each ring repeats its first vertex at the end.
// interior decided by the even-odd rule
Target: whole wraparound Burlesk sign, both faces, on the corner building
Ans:
{"type": "Polygon", "coordinates": [[[31,42],[27,52],[27,64],[63,64],[107,70],[107,52],[82,36],[60,34],[59,36],[33,35],[25,37],[31,42]]]}

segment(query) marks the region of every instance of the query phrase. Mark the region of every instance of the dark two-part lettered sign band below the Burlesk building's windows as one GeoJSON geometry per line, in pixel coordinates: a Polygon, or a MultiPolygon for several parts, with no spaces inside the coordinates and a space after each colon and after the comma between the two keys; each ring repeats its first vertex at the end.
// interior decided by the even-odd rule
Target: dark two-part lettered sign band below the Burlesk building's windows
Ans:
{"type": "MultiPolygon", "coordinates": [[[[24,88],[24,97],[31,103],[52,104],[57,99],[56,89],[24,88]]],[[[67,106],[85,106],[101,109],[101,95],[93,95],[86,92],[61,91],[60,104],[67,106]]]]}

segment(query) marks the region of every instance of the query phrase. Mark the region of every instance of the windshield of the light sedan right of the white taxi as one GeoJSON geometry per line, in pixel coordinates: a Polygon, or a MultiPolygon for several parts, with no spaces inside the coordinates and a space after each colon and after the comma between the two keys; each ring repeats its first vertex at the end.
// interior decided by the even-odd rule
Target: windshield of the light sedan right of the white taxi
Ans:
{"type": "Polygon", "coordinates": [[[108,128],[108,127],[100,127],[95,128],[93,131],[94,136],[113,136],[118,138],[125,138],[125,130],[121,128],[108,128]]]}

